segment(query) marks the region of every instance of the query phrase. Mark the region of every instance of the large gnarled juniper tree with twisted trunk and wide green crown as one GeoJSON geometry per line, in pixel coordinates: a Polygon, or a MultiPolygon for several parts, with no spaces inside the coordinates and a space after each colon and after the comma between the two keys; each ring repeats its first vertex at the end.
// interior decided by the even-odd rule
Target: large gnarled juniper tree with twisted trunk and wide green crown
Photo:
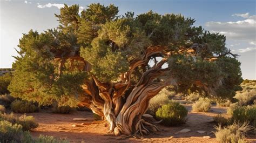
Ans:
{"type": "Polygon", "coordinates": [[[110,133],[158,130],[143,114],[169,86],[184,94],[232,98],[240,90],[240,63],[225,36],[193,26],[192,18],[149,11],[118,15],[114,5],[65,5],[59,25],[30,30],[12,65],[12,96],[41,105],[86,106],[104,117],[110,133]]]}

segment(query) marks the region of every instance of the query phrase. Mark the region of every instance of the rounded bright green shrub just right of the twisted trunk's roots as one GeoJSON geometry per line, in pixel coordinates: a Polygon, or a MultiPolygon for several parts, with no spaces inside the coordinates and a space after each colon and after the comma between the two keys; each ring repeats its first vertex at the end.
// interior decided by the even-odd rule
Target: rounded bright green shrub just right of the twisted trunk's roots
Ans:
{"type": "Polygon", "coordinates": [[[169,104],[158,108],[156,117],[163,120],[161,124],[166,126],[180,125],[186,122],[187,109],[177,102],[171,101],[169,104]]]}

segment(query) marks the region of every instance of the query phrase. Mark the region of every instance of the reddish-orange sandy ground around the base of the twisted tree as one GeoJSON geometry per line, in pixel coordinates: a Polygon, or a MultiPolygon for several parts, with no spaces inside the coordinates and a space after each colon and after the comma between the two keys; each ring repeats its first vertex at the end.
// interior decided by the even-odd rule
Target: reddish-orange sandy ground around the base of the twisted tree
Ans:
{"type": "MultiPolygon", "coordinates": [[[[147,135],[144,138],[128,138],[118,140],[117,137],[106,134],[109,126],[106,122],[93,121],[91,112],[77,111],[71,114],[53,114],[49,111],[29,113],[39,123],[39,127],[31,131],[33,137],[40,134],[52,135],[56,138],[66,138],[72,142],[217,142],[213,134],[214,124],[212,123],[216,114],[226,112],[225,107],[213,106],[210,112],[191,112],[191,105],[185,105],[188,111],[186,124],[177,127],[159,126],[164,132],[147,135]],[[90,121],[73,121],[73,118],[88,118],[90,121]],[[84,125],[81,125],[84,123],[84,125]],[[72,125],[77,125],[73,127],[72,125]],[[191,131],[177,133],[184,128],[191,131]],[[206,131],[203,134],[197,131],[206,131]],[[210,139],[203,138],[210,136],[210,139]]],[[[256,137],[248,137],[251,142],[256,142],[256,137]]]]}

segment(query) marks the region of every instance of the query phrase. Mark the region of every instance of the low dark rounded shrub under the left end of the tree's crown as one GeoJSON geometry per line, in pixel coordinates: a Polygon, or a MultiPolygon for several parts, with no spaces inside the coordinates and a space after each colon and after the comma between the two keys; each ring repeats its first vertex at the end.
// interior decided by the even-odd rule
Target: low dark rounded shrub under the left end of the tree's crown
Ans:
{"type": "Polygon", "coordinates": [[[11,103],[11,110],[16,113],[38,112],[39,107],[27,101],[15,100],[11,103]]]}

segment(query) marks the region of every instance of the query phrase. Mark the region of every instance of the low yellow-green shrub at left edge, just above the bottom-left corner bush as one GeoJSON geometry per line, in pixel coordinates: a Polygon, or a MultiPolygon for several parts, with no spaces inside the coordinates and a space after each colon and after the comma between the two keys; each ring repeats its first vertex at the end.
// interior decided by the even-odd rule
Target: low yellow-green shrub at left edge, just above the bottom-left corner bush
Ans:
{"type": "Polygon", "coordinates": [[[29,131],[32,128],[38,127],[38,123],[35,121],[35,118],[32,116],[21,115],[21,117],[17,117],[14,114],[0,114],[0,120],[6,120],[11,122],[12,124],[22,125],[23,131],[29,131]]]}

